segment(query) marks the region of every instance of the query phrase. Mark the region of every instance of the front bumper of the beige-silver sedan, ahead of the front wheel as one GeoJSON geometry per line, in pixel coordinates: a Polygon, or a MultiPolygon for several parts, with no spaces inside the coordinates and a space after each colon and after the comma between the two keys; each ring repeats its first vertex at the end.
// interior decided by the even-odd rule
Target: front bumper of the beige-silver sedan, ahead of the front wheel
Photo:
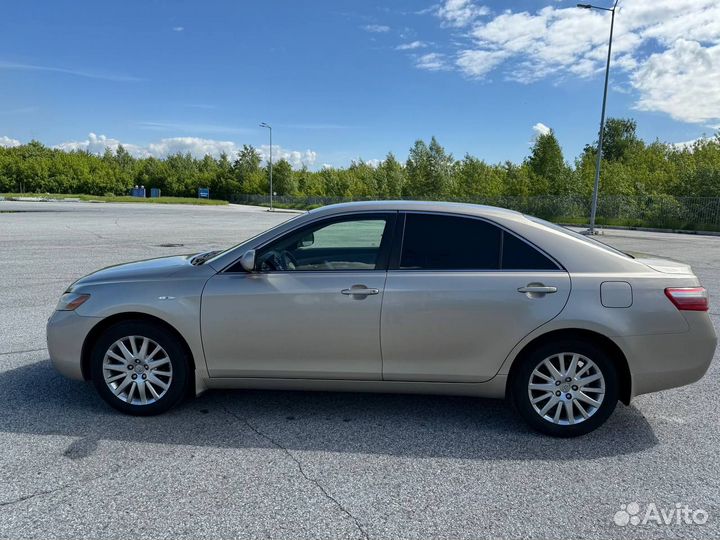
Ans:
{"type": "Polygon", "coordinates": [[[47,322],[48,353],[53,366],[71,379],[84,379],[82,346],[90,330],[100,321],[74,311],[56,311],[47,322]]]}

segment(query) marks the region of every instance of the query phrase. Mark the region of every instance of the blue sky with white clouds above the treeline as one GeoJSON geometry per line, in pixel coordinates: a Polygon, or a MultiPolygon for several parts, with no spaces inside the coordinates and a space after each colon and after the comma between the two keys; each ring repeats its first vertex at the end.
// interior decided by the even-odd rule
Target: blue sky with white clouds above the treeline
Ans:
{"type": "MultiPolygon", "coordinates": [[[[621,2],[609,115],[647,140],[716,131],[716,4],[621,2]]],[[[0,144],[266,153],[265,121],[277,154],[318,168],[405,159],[432,135],[456,157],[520,161],[550,127],[572,160],[596,137],[610,22],[574,5],[6,1],[0,144]]]]}

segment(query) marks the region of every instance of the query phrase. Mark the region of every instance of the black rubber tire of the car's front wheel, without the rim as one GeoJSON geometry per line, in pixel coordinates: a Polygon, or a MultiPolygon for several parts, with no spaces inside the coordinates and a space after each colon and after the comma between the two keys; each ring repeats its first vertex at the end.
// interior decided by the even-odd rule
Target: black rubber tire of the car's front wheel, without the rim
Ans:
{"type": "MultiPolygon", "coordinates": [[[[187,393],[186,389],[191,375],[189,366],[188,355],[178,342],[177,336],[163,326],[150,321],[122,321],[113,324],[97,339],[90,357],[91,378],[100,397],[118,411],[135,416],[160,414],[177,405],[187,393]],[[164,393],[161,393],[159,399],[152,403],[128,403],[116,396],[105,382],[103,374],[105,354],[114,343],[126,336],[140,336],[153,340],[165,350],[170,359],[172,376],[169,378],[169,387],[164,390],[164,393]]],[[[142,377],[142,375],[139,376],[142,377]]],[[[150,378],[152,379],[152,377],[150,378]]],[[[163,378],[163,380],[167,381],[168,379],[163,378]]]]}

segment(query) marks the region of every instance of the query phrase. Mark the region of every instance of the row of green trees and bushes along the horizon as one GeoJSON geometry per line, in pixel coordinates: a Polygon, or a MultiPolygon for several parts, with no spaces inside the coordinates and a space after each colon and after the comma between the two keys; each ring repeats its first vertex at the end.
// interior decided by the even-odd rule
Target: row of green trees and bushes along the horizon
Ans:
{"type": "MultiPolygon", "coordinates": [[[[678,146],[637,136],[632,119],[612,118],[605,126],[601,189],[604,195],[720,197],[720,134],[678,146]]],[[[453,199],[532,197],[592,193],[597,142],[573,163],[566,161],[555,134],[539,135],[522,163],[489,164],[466,154],[456,159],[433,137],[418,140],[405,162],[389,153],[378,164],[356,161],[345,168],[293,169],[273,164],[278,195],[349,199],[453,199]]],[[[0,147],[0,192],[127,195],[135,185],[156,187],[165,196],[194,197],[209,187],[212,198],[228,199],[269,190],[269,170],[257,150],[244,145],[237,155],[164,159],[135,158],[125,148],[103,155],[66,152],[37,141],[0,147]]]]}

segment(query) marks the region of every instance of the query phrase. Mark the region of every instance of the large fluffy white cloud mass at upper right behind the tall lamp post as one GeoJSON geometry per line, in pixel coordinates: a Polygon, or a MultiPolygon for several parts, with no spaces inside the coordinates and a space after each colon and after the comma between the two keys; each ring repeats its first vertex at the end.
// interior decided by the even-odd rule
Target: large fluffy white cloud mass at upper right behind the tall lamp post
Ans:
{"type": "MultiPolygon", "coordinates": [[[[502,70],[509,80],[601,76],[610,14],[549,5],[536,12],[489,15],[469,0],[436,7],[442,26],[454,30],[452,62],[417,61],[421,69],[450,65],[471,78],[502,70]],[[489,16],[486,16],[489,15],[489,16]]],[[[636,106],[676,120],[720,119],[720,2],[718,0],[623,0],[615,18],[613,89],[637,93],[636,106]]],[[[433,53],[437,54],[437,53],[433,53]]]]}

